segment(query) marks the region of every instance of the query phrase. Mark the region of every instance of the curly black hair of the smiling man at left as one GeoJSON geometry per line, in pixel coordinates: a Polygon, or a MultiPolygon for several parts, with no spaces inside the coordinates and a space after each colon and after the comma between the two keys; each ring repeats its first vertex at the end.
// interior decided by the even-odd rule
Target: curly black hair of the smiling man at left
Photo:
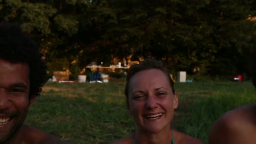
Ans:
{"type": "Polygon", "coordinates": [[[30,75],[29,99],[39,96],[46,82],[46,63],[33,39],[20,26],[0,23],[0,59],[12,63],[27,63],[30,75]]]}

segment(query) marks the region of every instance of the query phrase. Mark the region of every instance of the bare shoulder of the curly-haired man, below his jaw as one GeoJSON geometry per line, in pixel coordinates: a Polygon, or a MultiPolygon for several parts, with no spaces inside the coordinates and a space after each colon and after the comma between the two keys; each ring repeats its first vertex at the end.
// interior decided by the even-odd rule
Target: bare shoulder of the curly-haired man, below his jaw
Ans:
{"type": "Polygon", "coordinates": [[[21,126],[23,132],[23,141],[28,144],[70,144],[68,142],[59,141],[56,137],[45,132],[23,124],[21,126]]]}

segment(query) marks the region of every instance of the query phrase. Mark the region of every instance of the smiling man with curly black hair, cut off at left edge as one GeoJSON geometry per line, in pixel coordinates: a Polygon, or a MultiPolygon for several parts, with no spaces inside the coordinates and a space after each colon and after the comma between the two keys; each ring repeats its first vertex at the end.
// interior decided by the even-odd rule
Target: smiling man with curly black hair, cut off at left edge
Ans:
{"type": "Polygon", "coordinates": [[[23,122],[46,82],[46,64],[20,27],[0,23],[0,144],[63,144],[23,122]]]}

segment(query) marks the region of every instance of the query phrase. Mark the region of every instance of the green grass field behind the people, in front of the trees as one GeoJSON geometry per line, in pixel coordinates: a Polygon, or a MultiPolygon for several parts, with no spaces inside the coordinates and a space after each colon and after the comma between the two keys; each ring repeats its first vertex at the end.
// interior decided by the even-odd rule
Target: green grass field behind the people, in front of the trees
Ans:
{"type": "MultiPolygon", "coordinates": [[[[30,108],[30,124],[74,144],[111,144],[135,131],[124,95],[125,82],[47,83],[30,108]]],[[[172,128],[207,144],[208,131],[225,111],[256,104],[250,82],[177,83],[179,108],[172,128]]]]}

